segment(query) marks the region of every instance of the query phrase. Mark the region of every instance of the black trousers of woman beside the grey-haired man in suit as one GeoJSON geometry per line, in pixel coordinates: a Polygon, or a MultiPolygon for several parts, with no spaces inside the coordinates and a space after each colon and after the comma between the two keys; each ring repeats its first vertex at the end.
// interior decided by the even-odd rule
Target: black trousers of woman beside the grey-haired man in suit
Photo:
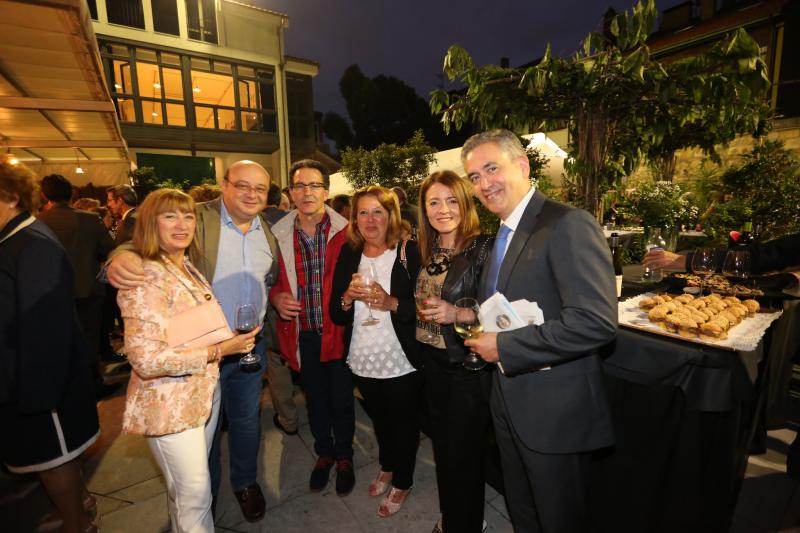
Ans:
{"type": "Polygon", "coordinates": [[[489,370],[472,371],[460,363],[439,362],[427,353],[434,350],[444,352],[426,350],[425,396],[443,530],[480,533],[490,423],[486,395],[489,370]]]}

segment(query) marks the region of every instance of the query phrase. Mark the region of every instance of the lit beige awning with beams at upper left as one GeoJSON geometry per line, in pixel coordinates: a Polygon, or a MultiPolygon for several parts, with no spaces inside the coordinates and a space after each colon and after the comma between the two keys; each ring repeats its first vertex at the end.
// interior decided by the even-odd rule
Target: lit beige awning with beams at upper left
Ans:
{"type": "Polygon", "coordinates": [[[0,2],[0,150],[77,186],[128,181],[85,1],[0,2]]]}

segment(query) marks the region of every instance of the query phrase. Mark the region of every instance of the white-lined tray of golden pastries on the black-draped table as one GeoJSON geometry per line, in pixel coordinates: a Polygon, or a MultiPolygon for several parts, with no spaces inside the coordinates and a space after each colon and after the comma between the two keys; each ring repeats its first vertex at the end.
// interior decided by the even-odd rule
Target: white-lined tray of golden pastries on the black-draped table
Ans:
{"type": "Polygon", "coordinates": [[[646,293],[619,304],[620,325],[731,350],[754,350],[780,315],[754,299],[718,293],[646,293]]]}

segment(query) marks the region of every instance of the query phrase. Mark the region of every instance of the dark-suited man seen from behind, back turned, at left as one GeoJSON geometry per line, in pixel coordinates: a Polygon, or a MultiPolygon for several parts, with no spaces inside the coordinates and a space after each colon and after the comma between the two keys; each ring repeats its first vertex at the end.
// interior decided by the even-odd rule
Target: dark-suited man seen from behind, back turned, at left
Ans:
{"type": "Polygon", "coordinates": [[[119,388],[118,384],[103,383],[99,353],[105,287],[97,281],[97,273],[114,243],[99,216],[70,207],[72,184],[64,176],[45,176],[42,179],[42,196],[47,203],[45,210],[39,214],[39,220],[56,234],[75,272],[75,307],[89,345],[89,362],[99,399],[119,388]]]}

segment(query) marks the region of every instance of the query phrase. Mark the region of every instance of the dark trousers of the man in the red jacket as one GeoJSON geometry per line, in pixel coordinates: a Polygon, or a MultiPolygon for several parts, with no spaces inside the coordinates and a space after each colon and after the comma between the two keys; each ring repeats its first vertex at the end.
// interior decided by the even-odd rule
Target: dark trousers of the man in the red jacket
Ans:
{"type": "Polygon", "coordinates": [[[320,457],[352,460],[356,415],[350,369],[344,359],[320,361],[322,336],[316,331],[301,331],[298,341],[314,451],[320,457]]]}

